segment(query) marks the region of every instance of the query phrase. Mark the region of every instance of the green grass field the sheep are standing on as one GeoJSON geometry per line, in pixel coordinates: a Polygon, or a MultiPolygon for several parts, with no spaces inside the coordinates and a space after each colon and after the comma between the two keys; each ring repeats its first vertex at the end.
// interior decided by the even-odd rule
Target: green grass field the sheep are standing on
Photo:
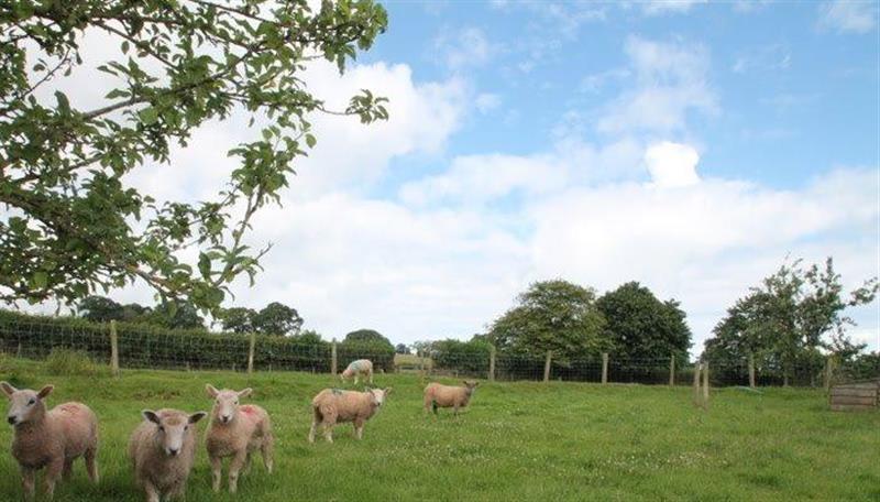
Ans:
{"type": "MultiPolygon", "coordinates": [[[[56,384],[50,405],[88,403],[101,421],[99,485],[77,462],[59,501],[140,501],[125,445],[144,407],[210,407],[206,382],[252,386],[272,414],[276,467],[256,463],[239,494],[210,491],[200,445],[187,501],[208,500],[880,500],[880,413],[832,413],[823,393],[717,390],[707,412],[688,388],[483,383],[454,419],[422,415],[422,382],[377,375],[389,401],[356,441],[306,441],[309,402],[329,375],[125,371],[122,378],[48,375],[7,359],[0,379],[56,384]]],[[[205,430],[205,424],[200,424],[205,430]]],[[[2,427],[8,448],[12,428],[2,427]]],[[[21,496],[18,466],[0,456],[0,500],[21,496]]]]}

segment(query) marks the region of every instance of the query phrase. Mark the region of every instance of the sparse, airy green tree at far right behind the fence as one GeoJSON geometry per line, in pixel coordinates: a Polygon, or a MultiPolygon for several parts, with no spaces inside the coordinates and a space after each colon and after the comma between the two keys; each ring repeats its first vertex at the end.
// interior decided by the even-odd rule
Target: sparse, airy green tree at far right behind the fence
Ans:
{"type": "Polygon", "coordinates": [[[706,342],[705,357],[735,361],[752,354],[780,368],[784,383],[799,363],[821,367],[820,349],[850,360],[865,346],[850,340],[846,329],[855,323],[844,313],[872,302],[877,292],[875,277],[846,295],[831,258],[807,269],[801,260],[783,263],[728,309],[706,342]]]}

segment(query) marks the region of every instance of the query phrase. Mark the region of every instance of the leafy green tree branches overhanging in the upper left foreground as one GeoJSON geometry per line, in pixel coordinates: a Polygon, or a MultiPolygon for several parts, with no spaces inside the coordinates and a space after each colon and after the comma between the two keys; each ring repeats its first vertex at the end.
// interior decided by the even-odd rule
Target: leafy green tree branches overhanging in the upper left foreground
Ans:
{"type": "Polygon", "coordinates": [[[386,25],[372,0],[323,1],[317,12],[301,0],[1,2],[0,301],[73,304],[144,282],[163,298],[219,307],[233,279],[260,270],[268,248],[242,238],[315,144],[310,114],[387,118],[366,90],[328,110],[302,79],[306,65],[322,57],[342,72],[386,25]],[[92,33],[123,56],[84,61],[79,44],[92,33]],[[118,83],[88,89],[105,97],[96,108],[61,78],[86,64],[118,83]],[[261,126],[231,145],[240,165],[216,199],[160,204],[125,184],[233,112],[261,126]],[[197,258],[183,261],[183,249],[197,258]]]}

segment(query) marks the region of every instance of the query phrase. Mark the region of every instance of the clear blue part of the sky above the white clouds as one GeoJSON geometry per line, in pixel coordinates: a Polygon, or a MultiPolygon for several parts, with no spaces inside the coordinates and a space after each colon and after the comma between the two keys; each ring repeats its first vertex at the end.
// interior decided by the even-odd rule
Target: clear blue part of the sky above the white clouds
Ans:
{"type": "MultiPolygon", "coordinates": [[[[391,28],[363,62],[406,62],[425,80],[461,74],[499,99],[492,112],[469,118],[449,142],[448,156],[541,151],[572,110],[584,113],[588,127],[596,109],[627,86],[629,77],[612,73],[626,68],[627,39],[639,36],[702,45],[708,53],[705,78],[722,110],[711,117],[689,112],[688,127],[671,134],[693,135],[705,145],[704,175],[747,175],[791,187],[834,164],[878,163],[877,31],[827,24],[826,4],[755,3],[744,9],[741,3],[718,2],[656,14],[646,13],[644,3],[385,6],[391,28]],[[569,25],[561,28],[565,20],[569,25]],[[482,44],[485,56],[474,47],[482,44]],[[461,62],[450,67],[450,57],[461,62]],[[601,81],[591,86],[591,77],[601,81]]],[[[876,3],[861,9],[857,11],[877,18],[876,3]]],[[[602,138],[588,128],[585,134],[602,138]]],[[[417,175],[413,162],[398,160],[398,165],[406,175],[417,175]]]]}

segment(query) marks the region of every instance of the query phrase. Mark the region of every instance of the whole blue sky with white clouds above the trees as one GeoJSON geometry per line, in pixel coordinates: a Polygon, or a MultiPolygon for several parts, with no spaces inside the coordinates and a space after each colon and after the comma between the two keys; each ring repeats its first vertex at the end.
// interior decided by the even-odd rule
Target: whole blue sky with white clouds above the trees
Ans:
{"type": "MultiPolygon", "coordinates": [[[[383,4],[371,51],[305,78],[337,108],[386,96],[391,119],[314,118],[234,305],[409,343],[484,331],[534,281],[638,281],[681,302],[698,353],[787,257],[831,255],[850,288],[880,273],[878,2],[383,4]]],[[[210,123],[129,181],[209,198],[256,133],[210,123]]],[[[880,350],[878,303],[850,315],[880,350]]]]}

